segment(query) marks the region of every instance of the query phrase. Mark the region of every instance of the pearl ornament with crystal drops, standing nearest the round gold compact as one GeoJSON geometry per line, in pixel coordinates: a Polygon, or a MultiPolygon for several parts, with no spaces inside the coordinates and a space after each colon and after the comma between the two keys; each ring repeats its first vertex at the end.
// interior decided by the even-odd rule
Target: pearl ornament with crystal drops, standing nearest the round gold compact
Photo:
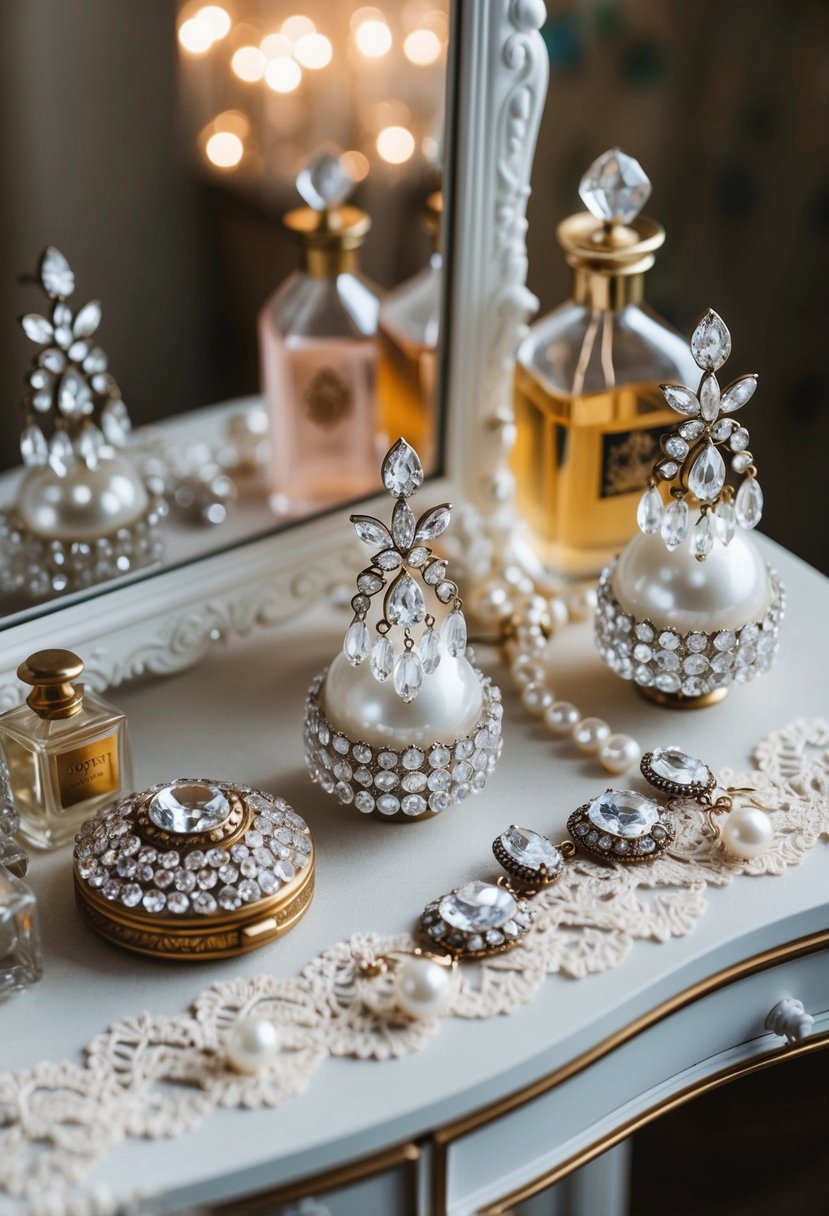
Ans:
{"type": "Polygon", "coordinates": [[[501,754],[503,710],[498,688],[467,658],[458,589],[432,551],[451,507],[416,518],[410,499],[423,466],[405,439],[387,454],[382,477],[395,500],[391,522],[351,517],[374,552],[356,576],[343,648],[309,691],[305,751],[311,778],[340,803],[414,820],[485,787],[501,754]]]}

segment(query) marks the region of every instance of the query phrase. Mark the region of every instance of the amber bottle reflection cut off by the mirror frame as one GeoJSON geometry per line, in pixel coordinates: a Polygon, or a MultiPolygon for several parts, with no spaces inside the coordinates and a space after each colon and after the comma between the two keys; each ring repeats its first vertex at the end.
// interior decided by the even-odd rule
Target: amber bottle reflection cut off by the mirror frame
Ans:
{"type": "Polygon", "coordinates": [[[379,395],[383,429],[406,435],[430,473],[436,456],[438,337],[440,331],[440,191],[427,199],[429,265],[390,291],[380,304],[379,395]]]}

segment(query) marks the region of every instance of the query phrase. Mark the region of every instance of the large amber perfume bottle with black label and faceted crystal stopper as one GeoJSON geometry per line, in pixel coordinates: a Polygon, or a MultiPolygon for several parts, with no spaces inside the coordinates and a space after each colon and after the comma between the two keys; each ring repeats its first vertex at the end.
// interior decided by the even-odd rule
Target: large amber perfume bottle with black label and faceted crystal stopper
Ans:
{"type": "Polygon", "coordinates": [[[687,342],[644,303],[665,230],[639,215],[650,195],[642,167],[613,148],[579,193],[588,210],[556,233],[573,298],[531,326],[515,365],[520,545],[528,564],[564,578],[598,574],[633,535],[673,421],[659,384],[694,383],[695,372],[687,342]]]}

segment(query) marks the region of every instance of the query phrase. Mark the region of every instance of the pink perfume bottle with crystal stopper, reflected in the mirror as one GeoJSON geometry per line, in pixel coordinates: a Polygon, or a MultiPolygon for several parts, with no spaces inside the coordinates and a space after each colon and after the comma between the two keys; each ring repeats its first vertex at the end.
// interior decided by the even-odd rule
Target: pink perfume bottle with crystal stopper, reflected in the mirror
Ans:
{"type": "Polygon", "coordinates": [[[373,489],[380,421],[377,400],[379,288],[359,272],[371,220],[344,206],[354,179],[331,152],[297,178],[308,207],[284,225],[299,241],[301,268],[259,315],[270,415],[271,505],[310,511],[373,489]]]}

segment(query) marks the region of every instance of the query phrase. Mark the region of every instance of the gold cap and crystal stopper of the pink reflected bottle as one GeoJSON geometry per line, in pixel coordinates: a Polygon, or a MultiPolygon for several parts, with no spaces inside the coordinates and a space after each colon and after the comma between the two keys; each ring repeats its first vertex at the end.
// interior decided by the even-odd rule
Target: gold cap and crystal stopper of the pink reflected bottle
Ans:
{"type": "Polygon", "coordinates": [[[371,218],[346,204],[354,186],[354,175],[333,151],[318,152],[297,175],[297,190],[308,206],[287,212],[282,223],[301,244],[305,269],[315,278],[356,269],[355,250],[371,218]]]}

